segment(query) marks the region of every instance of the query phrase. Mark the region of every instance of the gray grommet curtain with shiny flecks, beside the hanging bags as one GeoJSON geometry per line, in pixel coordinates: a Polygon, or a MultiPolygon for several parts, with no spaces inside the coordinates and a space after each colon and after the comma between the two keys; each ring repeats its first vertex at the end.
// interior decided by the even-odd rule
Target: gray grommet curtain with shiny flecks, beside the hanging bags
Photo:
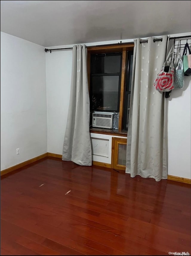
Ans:
{"type": "Polygon", "coordinates": [[[167,179],[166,103],[153,83],[165,61],[167,36],[162,42],[153,39],[134,40],[126,173],[160,181],[167,179]]]}

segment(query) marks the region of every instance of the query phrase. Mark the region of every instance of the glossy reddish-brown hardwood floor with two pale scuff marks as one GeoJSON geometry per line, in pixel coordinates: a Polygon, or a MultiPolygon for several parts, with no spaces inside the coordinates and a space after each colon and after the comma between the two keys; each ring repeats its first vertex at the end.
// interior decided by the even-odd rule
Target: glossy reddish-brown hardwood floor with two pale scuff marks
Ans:
{"type": "Polygon", "coordinates": [[[191,186],[44,158],[1,176],[1,255],[191,253],[191,186]]]}

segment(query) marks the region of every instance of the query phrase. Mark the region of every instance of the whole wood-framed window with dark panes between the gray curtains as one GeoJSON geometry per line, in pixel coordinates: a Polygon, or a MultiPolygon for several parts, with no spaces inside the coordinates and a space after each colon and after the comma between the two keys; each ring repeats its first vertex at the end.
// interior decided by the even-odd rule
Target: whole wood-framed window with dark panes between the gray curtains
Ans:
{"type": "Polygon", "coordinates": [[[119,112],[119,130],[128,128],[133,47],[130,43],[87,48],[90,125],[93,111],[119,112]]]}

